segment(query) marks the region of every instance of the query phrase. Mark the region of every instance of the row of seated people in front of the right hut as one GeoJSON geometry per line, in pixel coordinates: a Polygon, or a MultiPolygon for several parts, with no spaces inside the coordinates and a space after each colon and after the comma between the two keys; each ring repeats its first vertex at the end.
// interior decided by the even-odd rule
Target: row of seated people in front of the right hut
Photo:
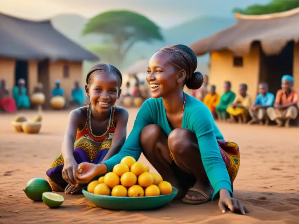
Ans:
{"type": "Polygon", "coordinates": [[[284,75],[281,79],[281,89],[277,90],[274,96],[268,91],[268,84],[261,82],[253,102],[247,93],[246,84],[240,84],[239,93],[236,94],[231,91],[231,83],[225,82],[224,94],[221,97],[216,93],[216,87],[211,85],[202,102],[218,120],[247,122],[249,125],[269,125],[269,122],[273,121],[278,127],[289,127],[290,122],[298,117],[299,93],[293,85],[294,78],[284,75]]]}

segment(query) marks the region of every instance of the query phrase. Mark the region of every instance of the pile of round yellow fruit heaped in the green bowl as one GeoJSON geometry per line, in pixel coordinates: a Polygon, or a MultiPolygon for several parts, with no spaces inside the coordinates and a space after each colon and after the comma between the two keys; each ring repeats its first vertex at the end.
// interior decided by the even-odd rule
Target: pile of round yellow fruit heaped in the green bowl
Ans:
{"type": "Polygon", "coordinates": [[[90,182],[87,191],[115,197],[149,197],[171,194],[172,186],[160,175],[149,173],[148,166],[126,156],[112,172],[90,182]]]}

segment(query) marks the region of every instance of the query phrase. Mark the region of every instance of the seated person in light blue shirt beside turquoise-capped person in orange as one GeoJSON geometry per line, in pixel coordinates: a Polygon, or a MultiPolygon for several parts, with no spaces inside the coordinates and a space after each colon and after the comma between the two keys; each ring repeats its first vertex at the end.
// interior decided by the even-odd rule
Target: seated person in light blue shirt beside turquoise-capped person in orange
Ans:
{"type": "Polygon", "coordinates": [[[261,82],[259,84],[259,94],[254,102],[254,105],[249,109],[251,121],[248,124],[259,122],[263,124],[263,120],[266,120],[265,124],[269,124],[269,118],[266,114],[266,110],[273,106],[275,96],[268,92],[268,84],[261,82]]]}

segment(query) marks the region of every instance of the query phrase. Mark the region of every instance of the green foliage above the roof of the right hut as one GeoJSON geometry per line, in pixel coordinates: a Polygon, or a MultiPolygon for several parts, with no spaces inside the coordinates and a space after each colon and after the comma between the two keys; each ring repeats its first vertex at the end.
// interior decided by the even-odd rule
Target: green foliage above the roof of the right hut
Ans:
{"type": "Polygon", "coordinates": [[[299,7],[299,0],[273,0],[268,4],[253,4],[245,9],[234,8],[233,13],[244,15],[263,15],[270,13],[280,13],[299,7]]]}

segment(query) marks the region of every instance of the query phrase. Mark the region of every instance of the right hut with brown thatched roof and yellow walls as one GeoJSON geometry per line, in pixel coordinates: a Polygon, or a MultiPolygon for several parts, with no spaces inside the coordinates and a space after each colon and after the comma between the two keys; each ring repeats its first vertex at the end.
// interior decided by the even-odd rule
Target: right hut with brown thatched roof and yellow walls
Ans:
{"type": "MultiPolygon", "coordinates": [[[[210,82],[220,92],[226,80],[235,91],[247,83],[253,96],[260,81],[269,82],[275,93],[284,74],[299,80],[299,8],[236,18],[231,27],[190,45],[198,56],[210,53],[210,82]]],[[[299,81],[295,85],[299,88],[299,81]]]]}

